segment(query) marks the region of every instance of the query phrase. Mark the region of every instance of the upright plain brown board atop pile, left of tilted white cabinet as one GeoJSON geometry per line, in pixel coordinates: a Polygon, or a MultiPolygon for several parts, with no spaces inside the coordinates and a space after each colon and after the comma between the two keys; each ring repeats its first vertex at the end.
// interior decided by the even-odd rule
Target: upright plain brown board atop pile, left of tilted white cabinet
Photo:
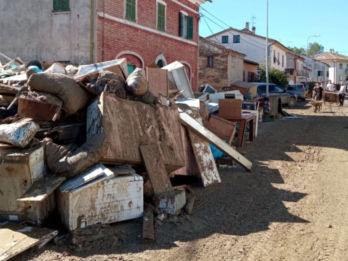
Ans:
{"type": "Polygon", "coordinates": [[[146,77],[148,89],[157,96],[162,94],[168,97],[168,71],[159,68],[147,68],[146,77]]]}

